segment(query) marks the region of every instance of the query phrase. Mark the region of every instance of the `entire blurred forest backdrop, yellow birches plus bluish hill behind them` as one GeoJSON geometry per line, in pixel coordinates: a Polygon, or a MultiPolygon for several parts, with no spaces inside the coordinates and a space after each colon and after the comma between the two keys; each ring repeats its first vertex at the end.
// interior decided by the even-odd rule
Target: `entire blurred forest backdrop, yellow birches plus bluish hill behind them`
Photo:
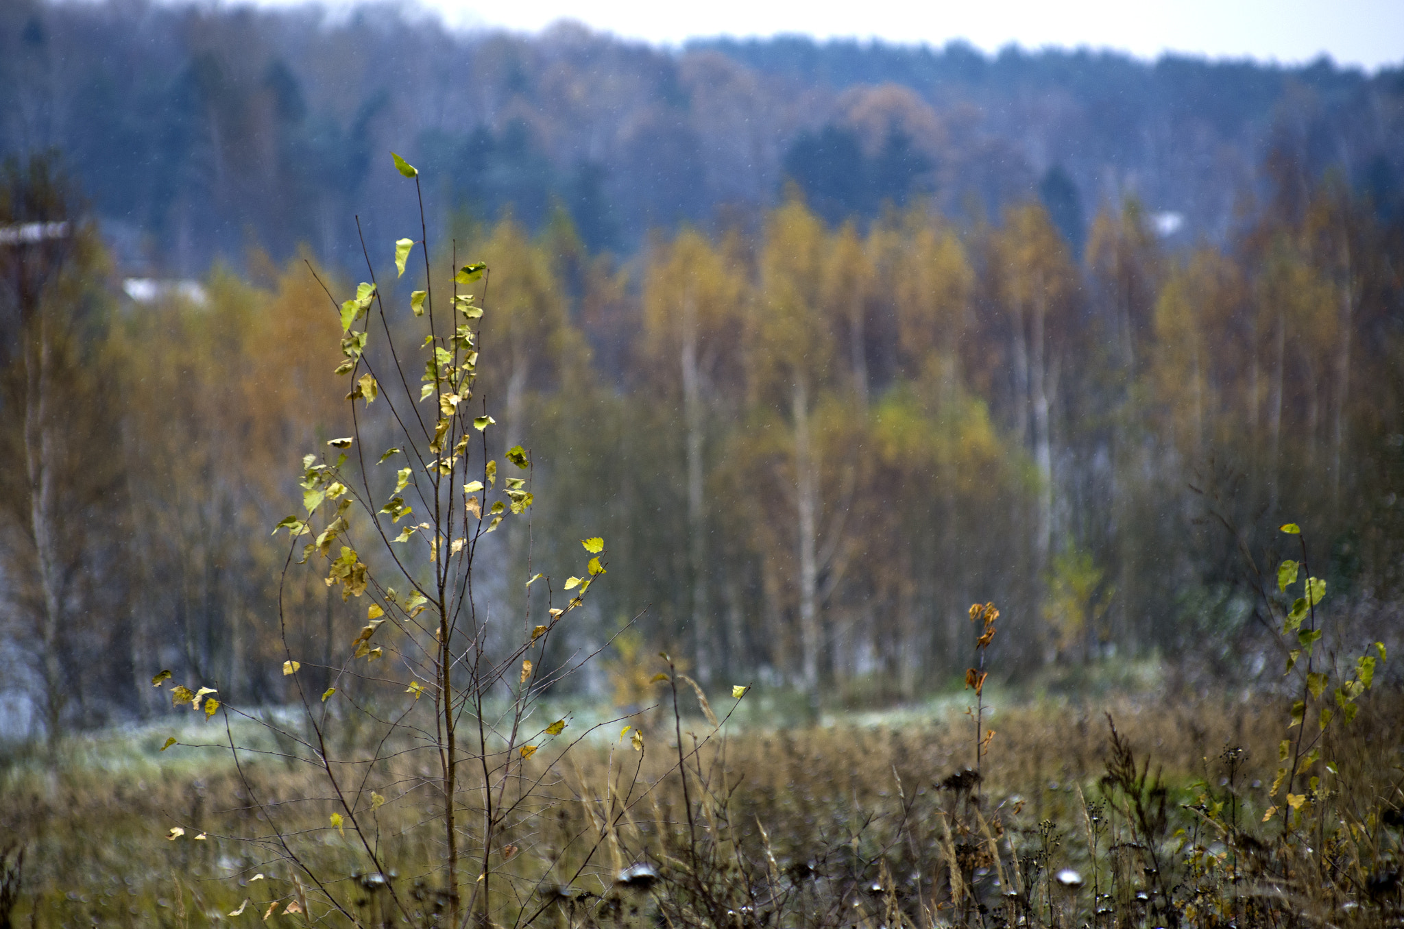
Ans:
{"type": "MultiPolygon", "coordinates": [[[[56,152],[11,159],[0,226],[73,223],[0,246],[11,727],[157,711],[156,668],[285,696],[268,532],[350,422],[313,271],[336,302],[366,279],[359,215],[389,326],[424,286],[385,271],[420,237],[392,149],[435,275],[491,268],[490,453],[535,463],[484,602],[512,609],[528,554],[563,577],[609,544],[556,661],[642,610],[616,679],[667,647],[703,682],[914,697],[997,601],[1008,672],[1160,655],[1271,686],[1283,522],[1331,609],[1397,643],[1398,72],[0,17],[0,147],[56,152]],[[133,303],[133,274],[208,299],[133,303]]],[[[293,573],[291,634],[330,664],[364,617],[293,573]]]]}

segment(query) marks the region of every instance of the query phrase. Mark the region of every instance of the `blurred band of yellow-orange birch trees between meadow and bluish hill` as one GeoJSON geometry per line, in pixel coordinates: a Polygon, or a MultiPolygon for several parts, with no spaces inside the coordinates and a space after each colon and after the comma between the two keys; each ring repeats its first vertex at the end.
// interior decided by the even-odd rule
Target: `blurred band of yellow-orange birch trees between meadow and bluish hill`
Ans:
{"type": "MultiPolygon", "coordinates": [[[[1271,685],[1248,557],[1275,563],[1292,521],[1335,609],[1393,641],[1404,236],[1299,168],[1272,161],[1224,247],[1178,251],[1136,201],[1081,254],[1033,198],[973,227],[921,202],[859,226],[792,188],[757,229],[681,227],[626,264],[559,206],[538,233],[451,218],[456,255],[491,267],[490,453],[528,448],[541,501],[486,550],[493,615],[528,552],[559,571],[602,535],[608,582],[556,660],[646,610],[639,633],[703,682],[913,697],[959,679],[966,608],[995,601],[998,668],[1115,651],[1271,685]]],[[[205,305],[118,300],[69,189],[38,160],[0,192],[0,226],[73,223],[0,246],[0,453],[24,463],[0,483],[6,688],[35,731],[159,711],[163,667],[279,700],[268,532],[302,455],[345,434],[336,352],[298,348],[334,347],[336,313],[307,265],[258,251],[205,305]]],[[[322,274],[337,296],[364,278],[322,274]]],[[[380,276],[393,313],[421,276],[380,276]]],[[[293,570],[314,665],[364,617],[293,570]]]]}

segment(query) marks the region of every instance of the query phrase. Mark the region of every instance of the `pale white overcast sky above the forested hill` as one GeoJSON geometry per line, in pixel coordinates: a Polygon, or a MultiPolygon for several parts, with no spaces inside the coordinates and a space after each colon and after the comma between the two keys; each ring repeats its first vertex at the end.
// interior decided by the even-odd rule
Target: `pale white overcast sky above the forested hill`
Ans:
{"type": "MultiPolygon", "coordinates": [[[[256,0],[288,6],[296,0],[256,0]]],[[[345,7],[350,0],[323,0],[345,7]]],[[[536,32],[571,18],[615,35],[675,45],[689,38],[782,32],[945,45],[966,39],[987,52],[1014,42],[1164,51],[1299,63],[1328,53],[1376,69],[1404,62],[1404,0],[417,0],[455,27],[536,32]]]]}

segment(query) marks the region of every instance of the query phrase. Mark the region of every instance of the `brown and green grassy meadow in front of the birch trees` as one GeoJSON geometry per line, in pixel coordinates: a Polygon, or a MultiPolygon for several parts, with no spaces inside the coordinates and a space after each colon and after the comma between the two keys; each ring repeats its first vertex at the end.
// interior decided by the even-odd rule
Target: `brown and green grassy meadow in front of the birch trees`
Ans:
{"type": "MultiPolygon", "coordinates": [[[[751,700],[719,727],[688,688],[678,716],[667,682],[656,689],[660,704],[630,717],[637,742],[618,735],[607,709],[577,707],[573,727],[594,735],[532,759],[546,773],[493,849],[491,925],[1389,926],[1401,918],[1394,692],[1360,702],[1287,824],[1280,813],[1264,821],[1279,740],[1292,734],[1287,703],[1275,697],[1146,689],[1085,699],[991,685],[983,702],[995,709],[984,720],[995,735],[976,773],[972,690],[812,726],[775,724],[789,720],[764,693],[715,695],[723,716],[751,700]]],[[[317,769],[265,756],[240,775],[227,749],[187,747],[202,731],[218,742],[219,728],[163,720],[74,737],[58,756],[34,748],[7,758],[0,834],[24,853],[21,862],[14,845],[6,852],[7,888],[18,891],[4,898],[10,925],[185,928],[260,916],[446,925],[441,843],[418,828],[442,813],[432,797],[407,789],[375,811],[373,825],[362,820],[389,864],[369,871],[357,836],[329,825],[337,806],[317,769]],[[181,744],[163,754],[170,731],[181,744]],[[293,813],[278,818],[275,808],[293,813]],[[274,821],[306,839],[298,862],[271,841],[274,821]]],[[[351,742],[368,752],[376,734],[344,737],[354,754],[351,742]]],[[[472,807],[465,798],[465,814],[472,807]]]]}

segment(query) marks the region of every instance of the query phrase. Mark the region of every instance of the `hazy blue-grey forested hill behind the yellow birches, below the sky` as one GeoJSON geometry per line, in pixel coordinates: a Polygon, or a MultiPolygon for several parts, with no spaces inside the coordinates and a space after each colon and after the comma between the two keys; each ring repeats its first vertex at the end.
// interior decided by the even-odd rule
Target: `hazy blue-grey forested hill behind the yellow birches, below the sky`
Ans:
{"type": "Polygon", "coordinates": [[[372,236],[413,220],[371,171],[386,149],[438,178],[435,229],[511,212],[536,233],[560,208],[591,251],[635,254],[680,222],[758,233],[790,182],[831,223],[931,205],[969,230],[1040,198],[1081,247],[1098,209],[1134,196],[1182,218],[1177,244],[1226,244],[1269,195],[1275,149],[1307,180],[1337,164],[1397,216],[1404,79],[959,42],[674,52],[569,24],[451,32],[388,7],[14,0],[0,154],[51,146],[115,260],[157,276],[250,246],[357,267],[355,213],[372,236]]]}

